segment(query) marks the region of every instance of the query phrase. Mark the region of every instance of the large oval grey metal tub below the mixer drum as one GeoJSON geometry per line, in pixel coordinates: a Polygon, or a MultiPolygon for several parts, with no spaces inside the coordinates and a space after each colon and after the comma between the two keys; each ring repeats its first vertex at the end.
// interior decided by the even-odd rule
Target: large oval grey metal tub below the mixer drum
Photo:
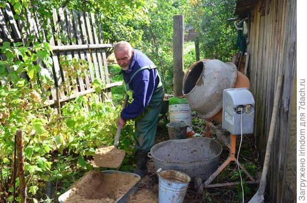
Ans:
{"type": "Polygon", "coordinates": [[[156,170],[171,169],[187,173],[192,179],[206,180],[218,167],[222,145],[211,138],[168,140],[154,145],[148,156],[156,170]]]}

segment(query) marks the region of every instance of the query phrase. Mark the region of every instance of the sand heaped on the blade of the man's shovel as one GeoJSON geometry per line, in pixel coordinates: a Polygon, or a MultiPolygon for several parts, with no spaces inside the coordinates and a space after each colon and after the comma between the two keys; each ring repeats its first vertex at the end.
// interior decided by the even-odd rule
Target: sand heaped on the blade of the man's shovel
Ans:
{"type": "Polygon", "coordinates": [[[101,146],[95,150],[94,161],[96,166],[118,168],[125,157],[125,151],[114,146],[101,146]]]}

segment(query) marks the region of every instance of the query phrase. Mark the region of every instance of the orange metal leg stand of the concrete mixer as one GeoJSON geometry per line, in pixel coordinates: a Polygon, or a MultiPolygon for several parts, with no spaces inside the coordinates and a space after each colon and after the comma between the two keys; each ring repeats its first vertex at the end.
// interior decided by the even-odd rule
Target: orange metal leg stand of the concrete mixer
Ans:
{"type": "MultiPolygon", "coordinates": [[[[209,138],[210,137],[210,126],[207,125],[207,137],[209,138]]],[[[216,171],[214,173],[212,173],[212,175],[210,175],[210,177],[205,181],[204,183],[204,187],[222,187],[222,186],[229,186],[229,185],[236,185],[237,183],[225,183],[225,184],[211,184],[209,185],[213,179],[221,173],[221,171],[231,162],[231,161],[234,161],[235,163],[237,163],[240,167],[240,169],[242,169],[244,171],[244,173],[251,179],[251,182],[247,182],[247,183],[251,183],[251,184],[257,184],[259,183],[259,181],[255,181],[255,179],[251,176],[251,174],[244,168],[244,166],[242,166],[238,160],[236,159],[235,157],[235,145],[236,145],[236,136],[234,134],[231,134],[230,136],[230,153],[229,153],[229,156],[227,158],[227,160],[220,166],[216,169],[216,171]]]]}

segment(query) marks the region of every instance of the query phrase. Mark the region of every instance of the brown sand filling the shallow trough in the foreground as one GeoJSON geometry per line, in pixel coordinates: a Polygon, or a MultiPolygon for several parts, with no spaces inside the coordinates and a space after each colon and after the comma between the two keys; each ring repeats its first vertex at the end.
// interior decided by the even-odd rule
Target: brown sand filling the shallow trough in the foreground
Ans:
{"type": "Polygon", "coordinates": [[[89,171],[71,187],[65,203],[111,203],[127,193],[139,177],[126,173],[89,171]]]}

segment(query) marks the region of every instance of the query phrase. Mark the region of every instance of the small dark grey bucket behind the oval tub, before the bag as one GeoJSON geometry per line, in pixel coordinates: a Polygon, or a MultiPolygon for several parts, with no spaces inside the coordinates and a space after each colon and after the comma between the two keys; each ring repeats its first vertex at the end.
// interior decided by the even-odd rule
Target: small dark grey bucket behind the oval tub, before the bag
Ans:
{"type": "Polygon", "coordinates": [[[174,121],[166,124],[170,140],[185,139],[188,124],[183,121],[174,121]]]}

